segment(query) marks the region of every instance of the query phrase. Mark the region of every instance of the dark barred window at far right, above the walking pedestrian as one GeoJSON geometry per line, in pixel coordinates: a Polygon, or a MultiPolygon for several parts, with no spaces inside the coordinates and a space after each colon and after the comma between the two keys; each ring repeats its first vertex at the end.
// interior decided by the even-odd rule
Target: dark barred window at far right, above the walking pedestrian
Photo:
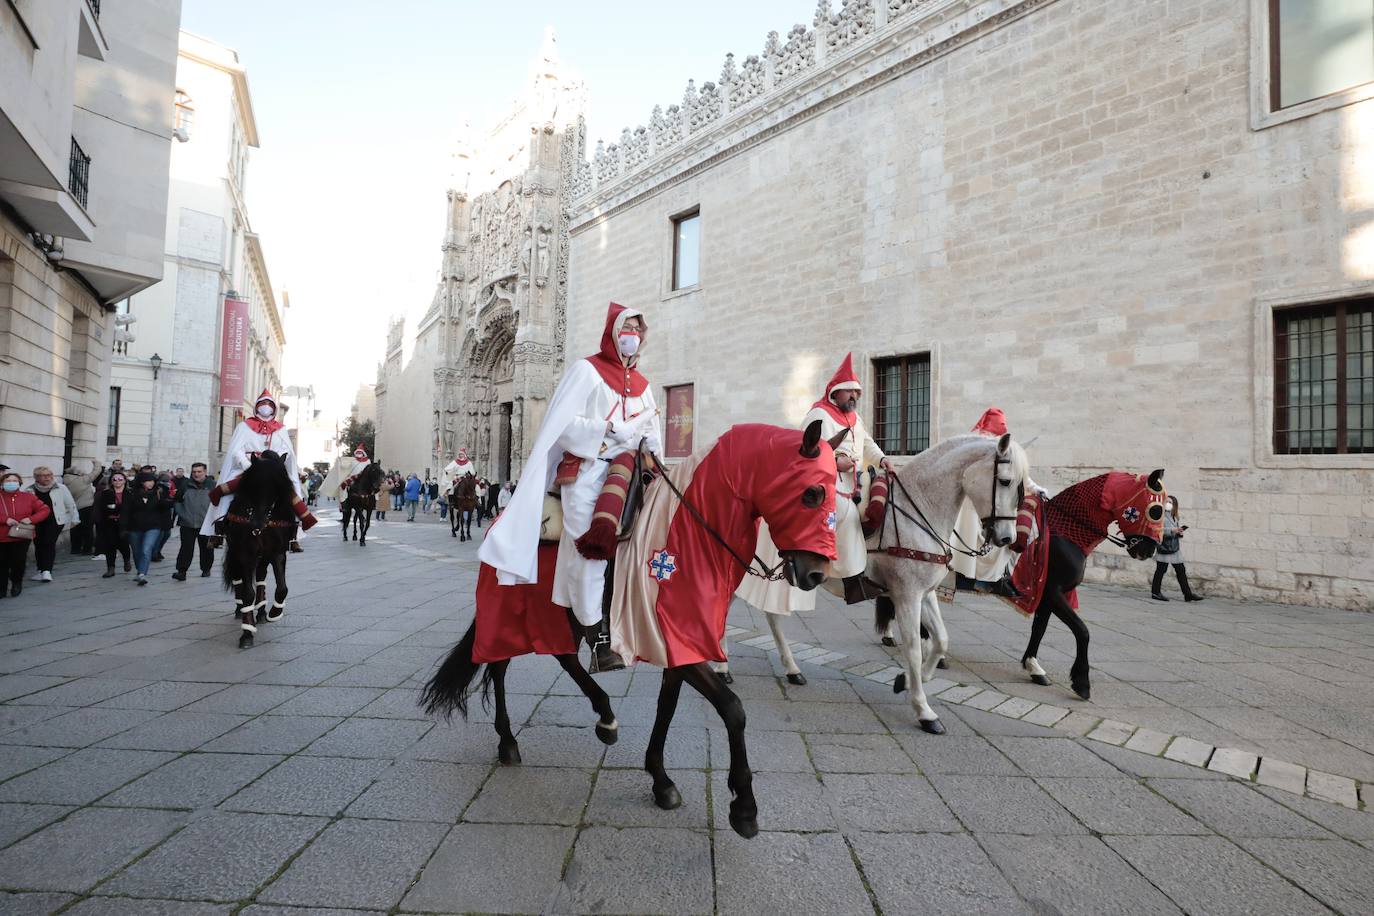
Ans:
{"type": "Polygon", "coordinates": [[[1274,452],[1374,452],[1374,299],[1275,312],[1274,452]]]}

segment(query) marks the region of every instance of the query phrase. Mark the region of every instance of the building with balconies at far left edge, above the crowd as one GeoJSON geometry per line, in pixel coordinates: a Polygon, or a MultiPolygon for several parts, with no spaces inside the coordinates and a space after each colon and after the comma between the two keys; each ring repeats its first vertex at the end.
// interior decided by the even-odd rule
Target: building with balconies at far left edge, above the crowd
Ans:
{"type": "Polygon", "coordinates": [[[100,459],[115,304],[162,279],[180,0],[0,3],[0,460],[100,459]]]}

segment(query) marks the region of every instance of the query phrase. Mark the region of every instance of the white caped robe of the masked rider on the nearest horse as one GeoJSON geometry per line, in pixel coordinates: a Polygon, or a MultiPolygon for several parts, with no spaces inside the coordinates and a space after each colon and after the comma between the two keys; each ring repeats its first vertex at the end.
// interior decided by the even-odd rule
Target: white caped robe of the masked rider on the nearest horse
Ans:
{"type": "MultiPolygon", "coordinates": [[[[496,570],[502,585],[522,585],[539,580],[539,530],[544,522],[544,494],[558,472],[563,452],[583,459],[577,479],[562,489],[563,536],[558,542],[554,573],[554,603],[570,607],[584,625],[602,615],[606,562],[588,560],[574,541],[591,527],[596,497],[610,470],[610,460],[628,446],[606,438],[606,422],[621,419],[621,394],[602,380],[587,360],[577,360],[563,374],[548,402],[544,423],[534,437],[519,483],[502,518],[488,530],[477,556],[496,570]],[[614,416],[611,413],[614,412],[614,416]]],[[[661,453],[662,423],[654,391],[625,398],[625,413],[649,437],[650,448],[661,453]]],[[[636,437],[638,438],[638,437],[636,437]]]]}

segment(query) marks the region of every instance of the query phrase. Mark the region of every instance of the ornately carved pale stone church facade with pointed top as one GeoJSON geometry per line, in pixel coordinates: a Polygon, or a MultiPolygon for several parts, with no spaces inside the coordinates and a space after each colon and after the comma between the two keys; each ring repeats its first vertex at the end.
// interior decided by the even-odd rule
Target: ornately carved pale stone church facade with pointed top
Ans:
{"type": "Polygon", "coordinates": [[[562,372],[562,188],[584,157],[583,98],[545,36],[523,100],[459,148],[434,298],[414,342],[404,320],[390,325],[378,372],[386,467],[437,474],[466,448],[484,477],[519,475],[562,372]]]}

